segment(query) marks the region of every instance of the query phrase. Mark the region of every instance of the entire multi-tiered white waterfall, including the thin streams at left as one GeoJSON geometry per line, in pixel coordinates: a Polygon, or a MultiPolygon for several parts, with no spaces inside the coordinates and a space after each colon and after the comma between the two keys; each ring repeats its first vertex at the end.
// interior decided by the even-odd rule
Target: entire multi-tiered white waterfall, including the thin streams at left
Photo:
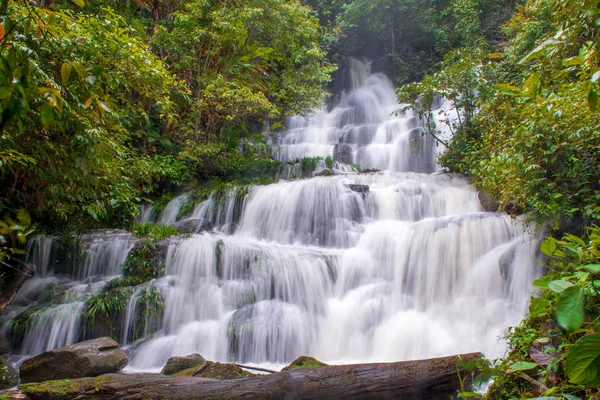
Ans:
{"type": "MultiPolygon", "coordinates": [[[[527,309],[535,240],[508,216],[484,212],[465,179],[434,173],[434,142],[410,113],[391,115],[400,106],[383,75],[358,61],[348,74],[338,106],[292,118],[272,138],[279,160],[333,156],[342,173],[198,204],[188,216],[216,230],[170,242],[164,277],[146,284],[164,298],[160,329],[132,347],[130,368],[159,369],[194,352],[256,364],[503,352],[506,328],[527,309]]],[[[162,215],[146,209],[145,218],[173,223],[186,196],[162,215]]],[[[70,278],[53,272],[50,239],[31,244],[38,276],[12,315],[49,283],[70,288],[36,311],[23,354],[77,340],[85,294],[119,275],[133,246],[123,233],[84,239],[80,272],[70,278]]],[[[138,320],[136,293],[123,332],[138,320]]]]}

